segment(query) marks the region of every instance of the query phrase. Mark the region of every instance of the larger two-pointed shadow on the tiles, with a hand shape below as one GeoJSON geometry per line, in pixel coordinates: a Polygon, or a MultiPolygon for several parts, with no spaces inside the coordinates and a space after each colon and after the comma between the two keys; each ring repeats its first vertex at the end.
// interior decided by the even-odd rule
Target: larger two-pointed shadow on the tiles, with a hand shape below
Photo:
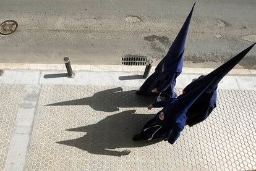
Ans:
{"type": "Polygon", "coordinates": [[[155,116],[155,114],[134,113],[135,110],[124,111],[109,115],[92,125],[67,129],[67,131],[86,132],[87,134],[77,139],[56,143],[73,146],[92,154],[126,156],[130,154],[129,150],[117,151],[114,149],[137,148],[160,142],[161,140],[132,140],[132,137],[141,131],[143,125],[155,116]]]}

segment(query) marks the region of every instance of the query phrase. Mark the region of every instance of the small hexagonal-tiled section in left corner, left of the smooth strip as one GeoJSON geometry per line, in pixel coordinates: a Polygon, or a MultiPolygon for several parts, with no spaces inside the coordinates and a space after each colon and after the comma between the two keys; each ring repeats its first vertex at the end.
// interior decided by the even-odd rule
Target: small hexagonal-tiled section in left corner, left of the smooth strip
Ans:
{"type": "Polygon", "coordinates": [[[4,170],[24,86],[0,85],[0,170],[4,170]]]}

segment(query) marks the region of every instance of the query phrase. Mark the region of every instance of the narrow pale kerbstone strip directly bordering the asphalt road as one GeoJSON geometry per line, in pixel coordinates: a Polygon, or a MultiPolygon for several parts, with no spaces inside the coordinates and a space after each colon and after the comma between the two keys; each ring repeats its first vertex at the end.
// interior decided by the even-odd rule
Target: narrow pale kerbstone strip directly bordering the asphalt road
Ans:
{"type": "MultiPolygon", "coordinates": [[[[7,70],[66,70],[64,64],[4,64],[0,63],[0,69],[7,70]]],[[[114,72],[143,72],[145,66],[127,66],[127,65],[77,65],[72,64],[73,70],[87,71],[114,71],[114,72]]],[[[155,66],[151,70],[154,70],[155,66]]],[[[207,74],[214,69],[210,68],[189,68],[184,67],[182,73],[200,73],[207,74]]],[[[256,70],[233,69],[229,75],[256,75],[256,70]]]]}

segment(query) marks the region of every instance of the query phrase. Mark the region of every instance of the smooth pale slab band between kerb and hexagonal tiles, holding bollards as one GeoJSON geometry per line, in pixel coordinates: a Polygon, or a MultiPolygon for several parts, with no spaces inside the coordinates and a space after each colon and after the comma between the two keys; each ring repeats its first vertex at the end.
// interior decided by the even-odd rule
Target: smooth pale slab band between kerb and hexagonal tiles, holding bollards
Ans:
{"type": "MultiPolygon", "coordinates": [[[[153,70],[151,70],[151,73],[153,70]]],[[[74,78],[67,78],[64,70],[5,70],[0,84],[20,85],[92,85],[132,86],[139,88],[145,78],[143,72],[75,71],[74,78]]],[[[181,73],[176,88],[184,88],[201,73],[181,73]]],[[[227,75],[218,86],[220,90],[256,90],[256,75],[227,75]]]]}

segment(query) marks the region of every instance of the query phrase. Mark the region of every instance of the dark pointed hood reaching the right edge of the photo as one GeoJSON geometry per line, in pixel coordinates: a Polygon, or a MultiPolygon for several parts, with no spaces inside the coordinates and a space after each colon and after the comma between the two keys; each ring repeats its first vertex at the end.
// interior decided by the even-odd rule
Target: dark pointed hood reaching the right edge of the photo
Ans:
{"type": "Polygon", "coordinates": [[[217,88],[218,83],[220,83],[221,79],[231,69],[233,69],[234,66],[236,66],[236,64],[240,60],[242,60],[242,58],[250,51],[250,49],[252,49],[252,47],[254,47],[254,44],[252,44],[252,46],[250,46],[249,48],[245,49],[244,51],[242,51],[239,54],[237,54],[236,56],[234,56],[232,59],[228,60],[228,62],[226,62],[225,64],[218,67],[218,69],[215,69],[215,70],[213,70],[213,72],[208,73],[208,75],[206,75],[204,77],[200,77],[197,80],[190,83],[188,86],[186,86],[186,88],[184,88],[184,91],[186,92],[186,90],[189,90],[189,91],[193,90],[193,88],[197,87],[202,82],[205,82],[207,80],[212,80],[212,78],[216,77],[215,81],[213,81],[213,83],[211,83],[211,85],[207,88],[207,91],[206,91],[208,94],[211,94],[217,88]]]}

